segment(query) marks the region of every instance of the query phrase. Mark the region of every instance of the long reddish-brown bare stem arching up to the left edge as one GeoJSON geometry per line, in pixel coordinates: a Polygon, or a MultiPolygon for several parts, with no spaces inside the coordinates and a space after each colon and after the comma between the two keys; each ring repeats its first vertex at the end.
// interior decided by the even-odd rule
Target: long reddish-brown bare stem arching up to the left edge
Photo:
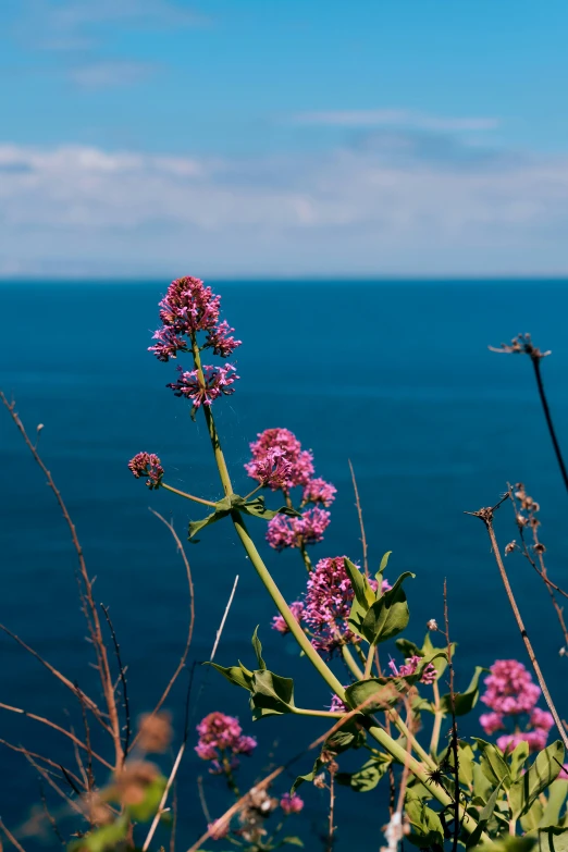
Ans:
{"type": "Polygon", "coordinates": [[[109,658],[107,654],[107,646],[104,644],[104,641],[102,639],[102,631],[100,628],[100,620],[97,613],[97,607],[95,605],[95,600],[92,597],[92,582],[89,578],[87,566],[85,563],[85,556],[83,554],[83,548],[81,546],[81,542],[77,536],[77,531],[75,529],[75,524],[73,523],[71,519],[71,515],[69,514],[67,507],[65,503],[63,502],[63,497],[61,496],[61,492],[57,487],[53,477],[51,476],[50,471],[47,469],[46,465],[44,464],[39,453],[37,452],[37,446],[32,443],[29,440],[27,432],[25,430],[25,427],[20,419],[16,410],[15,410],[15,402],[9,403],[7,396],[2,391],[0,391],[0,400],[3,403],[4,407],[9,411],[10,416],[12,417],[12,420],[14,421],[14,424],[16,425],[17,430],[20,431],[22,437],[24,439],[26,446],[28,447],[29,452],[34,456],[35,461],[44,472],[45,477],[47,478],[48,485],[53,492],[55,499],[59,504],[59,507],[61,509],[61,513],[63,515],[63,518],[65,519],[65,522],[69,527],[69,531],[71,533],[71,540],[73,542],[73,546],[75,547],[77,558],[78,558],[78,566],[79,566],[79,573],[83,579],[84,584],[84,597],[82,595],[82,603],[85,603],[84,612],[87,619],[87,625],[90,632],[90,638],[92,641],[92,644],[95,646],[95,653],[97,656],[97,664],[98,664],[98,670],[99,676],[101,680],[102,691],[104,694],[104,700],[107,702],[107,708],[109,712],[111,728],[112,728],[112,739],[114,742],[114,751],[115,751],[115,758],[116,758],[116,766],[120,763],[120,760],[122,757],[122,748],[121,748],[121,736],[120,736],[120,721],[119,721],[119,713],[116,709],[116,702],[114,699],[114,693],[112,690],[112,678],[110,674],[110,666],[109,666],[109,658]]]}

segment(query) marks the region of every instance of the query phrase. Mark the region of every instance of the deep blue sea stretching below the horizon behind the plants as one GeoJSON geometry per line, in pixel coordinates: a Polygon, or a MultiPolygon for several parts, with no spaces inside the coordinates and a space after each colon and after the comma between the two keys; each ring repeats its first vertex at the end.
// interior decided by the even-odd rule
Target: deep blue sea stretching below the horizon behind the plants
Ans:
{"type": "MultiPolygon", "coordinates": [[[[2,284],[1,381],[34,432],[45,424],[40,449],[67,502],[87,564],[97,576],[97,600],[110,606],[128,666],[135,712],[152,706],[180,657],[186,631],[184,569],[168,530],[148,511],[172,517],[182,533],[199,517],[185,501],[150,493],[126,461],[140,449],[158,453],[172,484],[217,497],[217,471],[201,418],[168,391],[173,367],[147,351],[156,304],[168,282],[153,284],[2,284]]],[[[347,459],[358,478],[371,565],[393,551],[388,576],[412,570],[410,638],[421,640],[428,618],[442,618],[446,577],[452,632],[459,642],[458,686],[474,664],[496,657],[524,659],[482,524],[464,515],[496,501],[507,480],[522,480],[542,507],[548,568],[566,581],[567,496],[555,465],[526,358],[492,355],[487,344],[530,331],[553,356],[543,366],[560,439],[568,444],[568,285],[564,282],[219,282],[224,316],[244,345],[237,392],[215,406],[236,490],[248,442],[268,427],[292,429],[313,449],[318,474],[338,497],[325,542],[313,556],[360,556],[347,459]]],[[[94,694],[89,647],[78,609],[75,554],[53,495],[8,415],[0,411],[2,492],[0,619],[94,694]]],[[[260,521],[250,524],[283,592],[296,597],[305,583],[298,555],[262,545],[260,521]]],[[[502,544],[515,538],[510,508],[498,514],[502,544]]],[[[269,629],[271,604],[235,542],[229,523],[203,531],[189,547],[196,583],[197,625],[192,660],[206,658],[236,573],[240,580],[218,660],[250,660],[249,637],[260,623],[269,666],[293,676],[297,703],[329,703],[325,687],[297,657],[294,643],[269,629]]],[[[561,637],[548,597],[521,557],[509,557],[511,579],[529,631],[560,706],[568,686],[558,657],[561,637]]],[[[77,729],[73,697],[7,637],[0,637],[1,701],[77,729]]],[[[341,667],[337,669],[342,671],[341,667]]],[[[183,724],[185,683],[168,706],[183,724]]],[[[238,715],[258,750],[270,757],[245,762],[243,786],[272,761],[300,751],[322,731],[318,723],[272,718],[252,725],[245,695],[199,669],[192,693],[192,724],[211,709],[238,715]],[[200,688],[200,684],[205,684],[200,688]]],[[[0,711],[0,736],[73,762],[65,742],[37,723],[0,711]]],[[[476,730],[476,709],[464,732],[476,730]]],[[[0,816],[18,826],[39,799],[36,774],[23,757],[1,751],[0,816]]],[[[311,767],[311,755],[298,771],[311,767]]],[[[192,754],[180,774],[178,848],[203,827],[192,754]]],[[[213,816],[227,803],[219,780],[205,785],[213,816]]],[[[288,783],[286,779],[282,789],[288,783]]],[[[305,789],[304,832],[317,832],[326,797],[305,789]]],[[[381,839],[375,802],[343,791],[338,852],[375,850],[381,839]],[[371,807],[369,805],[372,805],[371,807]],[[355,828],[356,823],[359,829],[355,828]],[[349,832],[351,832],[349,838],[349,832]],[[355,834],[353,834],[355,832],[355,834]]],[[[64,805],[54,800],[64,818],[64,805]]],[[[52,842],[48,834],[46,842],[52,842]]],[[[185,845],[184,845],[185,844],[185,845]]],[[[319,849],[317,835],[308,849],[319,849]]]]}

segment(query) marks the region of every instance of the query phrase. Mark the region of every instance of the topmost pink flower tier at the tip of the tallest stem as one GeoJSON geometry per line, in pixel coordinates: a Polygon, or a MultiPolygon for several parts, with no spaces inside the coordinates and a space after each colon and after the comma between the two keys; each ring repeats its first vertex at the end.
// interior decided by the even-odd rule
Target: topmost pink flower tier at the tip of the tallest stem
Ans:
{"type": "Polygon", "coordinates": [[[221,296],[215,296],[199,279],[186,276],[172,281],[160,301],[163,324],[153,335],[158,343],[149,350],[159,361],[169,361],[176,358],[178,351],[189,351],[189,342],[184,337],[205,331],[207,338],[202,348],[211,348],[214,355],[229,358],[242,342],[231,336],[235,330],[225,320],[219,322],[220,308],[221,296]]]}

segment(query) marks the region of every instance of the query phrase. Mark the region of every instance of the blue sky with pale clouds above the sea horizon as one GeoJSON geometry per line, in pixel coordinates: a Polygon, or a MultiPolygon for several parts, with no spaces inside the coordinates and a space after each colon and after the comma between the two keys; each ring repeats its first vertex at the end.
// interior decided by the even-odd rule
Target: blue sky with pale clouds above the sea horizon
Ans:
{"type": "Polygon", "coordinates": [[[0,274],[568,273],[565,0],[3,0],[0,274]]]}

